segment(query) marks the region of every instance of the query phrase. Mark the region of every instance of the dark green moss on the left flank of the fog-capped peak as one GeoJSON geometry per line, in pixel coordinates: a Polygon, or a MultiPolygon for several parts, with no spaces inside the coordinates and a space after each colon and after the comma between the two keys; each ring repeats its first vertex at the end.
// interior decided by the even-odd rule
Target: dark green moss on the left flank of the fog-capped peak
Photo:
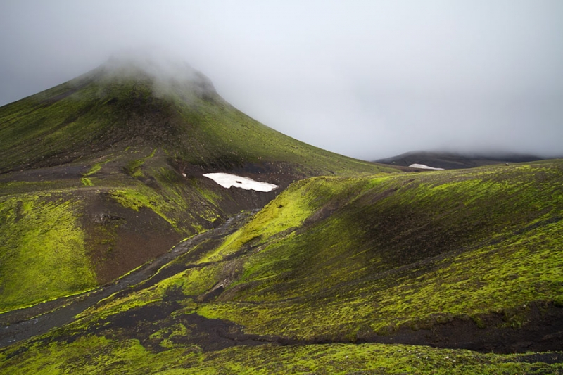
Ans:
{"type": "Polygon", "coordinates": [[[84,80],[68,82],[0,108],[3,167],[42,163],[70,150],[76,151],[73,155],[82,154],[113,126],[113,108],[96,103],[100,87],[89,84],[80,93],[72,92],[75,84],[84,84],[84,80]],[[51,99],[62,96],[61,100],[51,99]]]}

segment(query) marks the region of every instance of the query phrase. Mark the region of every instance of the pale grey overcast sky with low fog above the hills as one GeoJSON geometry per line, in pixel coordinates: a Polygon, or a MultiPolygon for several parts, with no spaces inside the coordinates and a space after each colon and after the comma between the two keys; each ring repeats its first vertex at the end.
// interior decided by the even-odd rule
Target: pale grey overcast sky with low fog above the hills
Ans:
{"type": "Polygon", "coordinates": [[[563,155],[563,1],[0,1],[0,105],[167,51],[315,146],[563,155]]]}

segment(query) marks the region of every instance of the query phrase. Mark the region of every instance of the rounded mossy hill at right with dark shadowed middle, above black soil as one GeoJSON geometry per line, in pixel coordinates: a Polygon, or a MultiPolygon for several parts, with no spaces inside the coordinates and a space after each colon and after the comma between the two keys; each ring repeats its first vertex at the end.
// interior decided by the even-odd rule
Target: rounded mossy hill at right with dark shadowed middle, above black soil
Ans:
{"type": "Polygon", "coordinates": [[[561,161],[298,182],[203,259],[244,254],[198,312],[298,340],[525,325],[561,305],[561,186],[561,161]]]}

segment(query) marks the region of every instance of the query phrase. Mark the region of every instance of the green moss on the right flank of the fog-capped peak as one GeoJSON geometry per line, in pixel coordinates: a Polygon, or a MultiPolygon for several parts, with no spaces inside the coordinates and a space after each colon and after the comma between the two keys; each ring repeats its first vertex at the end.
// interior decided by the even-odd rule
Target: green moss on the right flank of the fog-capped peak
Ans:
{"type": "MultiPolygon", "coordinates": [[[[195,98],[191,106],[186,105],[185,101],[182,103],[177,100],[176,103],[186,122],[201,124],[191,134],[189,149],[204,160],[222,160],[234,165],[285,160],[305,174],[393,171],[392,168],[346,158],[291,139],[255,122],[220,98],[215,101],[195,98]],[[194,104],[198,108],[197,112],[193,110],[194,104]],[[224,124],[229,126],[225,127],[224,124]],[[215,146],[208,147],[210,143],[215,146]]],[[[193,163],[200,162],[198,158],[191,160],[193,163]]]]}

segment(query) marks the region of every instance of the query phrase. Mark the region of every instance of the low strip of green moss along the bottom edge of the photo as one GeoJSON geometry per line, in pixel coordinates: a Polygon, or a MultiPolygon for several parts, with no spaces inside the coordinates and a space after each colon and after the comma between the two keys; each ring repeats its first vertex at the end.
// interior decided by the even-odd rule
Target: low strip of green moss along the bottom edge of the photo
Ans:
{"type": "Polygon", "coordinates": [[[524,355],[381,344],[239,345],[203,352],[172,342],[189,334],[175,324],[154,334],[163,350],[137,340],[87,336],[69,344],[32,345],[16,357],[0,357],[3,374],[559,374],[562,364],[523,362],[524,355]],[[170,344],[170,345],[169,345],[170,344]]]}

